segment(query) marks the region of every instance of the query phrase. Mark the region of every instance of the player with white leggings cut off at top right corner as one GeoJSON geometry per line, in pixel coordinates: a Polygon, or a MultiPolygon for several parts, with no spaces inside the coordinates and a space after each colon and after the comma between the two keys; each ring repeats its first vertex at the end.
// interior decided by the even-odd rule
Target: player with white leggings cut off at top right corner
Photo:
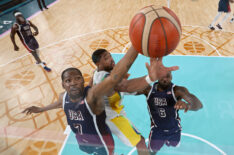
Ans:
{"type": "Polygon", "coordinates": [[[222,24],[223,22],[225,22],[227,20],[227,18],[230,15],[231,12],[231,7],[230,7],[230,2],[234,2],[234,0],[219,0],[219,7],[218,7],[218,14],[215,16],[214,20],[212,21],[212,23],[209,25],[209,28],[211,30],[215,30],[214,28],[214,24],[215,22],[219,19],[219,17],[222,15],[222,13],[224,12],[226,15],[223,17],[223,19],[221,20],[221,22],[219,22],[216,26],[222,30],[222,24]]]}

